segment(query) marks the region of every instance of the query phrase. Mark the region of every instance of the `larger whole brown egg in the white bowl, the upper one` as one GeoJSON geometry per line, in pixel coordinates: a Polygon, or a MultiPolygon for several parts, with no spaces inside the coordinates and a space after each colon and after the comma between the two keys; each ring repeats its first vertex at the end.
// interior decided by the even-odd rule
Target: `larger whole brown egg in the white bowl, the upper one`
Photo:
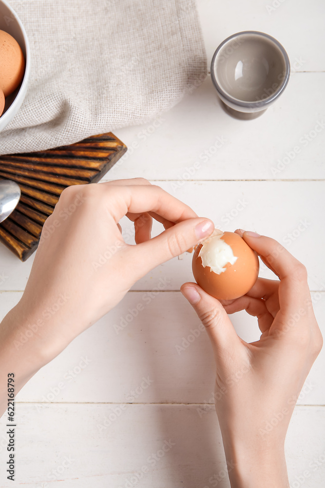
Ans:
{"type": "Polygon", "coordinates": [[[25,73],[25,58],[18,42],[0,30],[0,88],[7,97],[19,86],[25,73]]]}

